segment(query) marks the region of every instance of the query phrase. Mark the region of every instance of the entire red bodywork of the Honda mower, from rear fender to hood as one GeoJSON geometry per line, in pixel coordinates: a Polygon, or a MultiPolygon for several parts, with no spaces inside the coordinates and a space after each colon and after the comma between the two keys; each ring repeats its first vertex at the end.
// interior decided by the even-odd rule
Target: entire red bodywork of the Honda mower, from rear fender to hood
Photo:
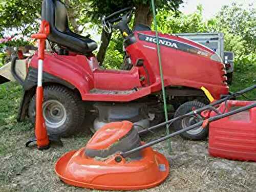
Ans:
{"type": "MultiPolygon", "coordinates": [[[[158,92],[161,90],[161,80],[156,44],[141,40],[139,34],[154,37],[155,32],[134,32],[136,41],[126,47],[134,65],[130,71],[100,69],[93,56],[57,54],[46,54],[44,71],[72,84],[80,92],[82,100],[132,101],[158,92]],[[143,59],[144,66],[135,66],[138,59],[143,59]]],[[[193,53],[191,50],[182,51],[176,46],[161,46],[165,87],[185,86],[200,90],[203,86],[215,99],[228,94],[224,65],[210,59],[213,51],[188,39],[159,35],[162,39],[174,40],[181,47],[190,46],[197,51],[193,53]],[[201,52],[206,55],[200,55],[201,52]]],[[[30,66],[37,68],[36,54],[30,66]]]]}

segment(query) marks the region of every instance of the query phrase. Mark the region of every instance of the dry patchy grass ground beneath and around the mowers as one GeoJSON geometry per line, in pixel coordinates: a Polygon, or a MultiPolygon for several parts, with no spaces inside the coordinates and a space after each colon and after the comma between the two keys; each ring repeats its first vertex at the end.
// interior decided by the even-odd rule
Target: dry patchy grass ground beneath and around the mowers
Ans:
{"type": "MultiPolygon", "coordinates": [[[[231,91],[255,84],[255,74],[256,65],[249,66],[246,71],[236,70],[231,91]]],[[[68,186],[54,173],[54,164],[62,154],[84,146],[92,136],[88,129],[91,122],[84,124],[83,133],[63,139],[63,147],[54,145],[45,152],[26,148],[24,143],[33,136],[33,126],[29,121],[16,121],[22,93],[17,83],[0,86],[0,191],[97,191],[68,186]]],[[[256,90],[247,96],[255,98],[256,90]]],[[[148,134],[142,140],[153,138],[148,134]]],[[[172,153],[168,154],[165,142],[154,146],[168,159],[170,174],[163,184],[145,191],[256,190],[256,163],[209,157],[207,141],[176,137],[172,139],[172,147],[172,153]]]]}

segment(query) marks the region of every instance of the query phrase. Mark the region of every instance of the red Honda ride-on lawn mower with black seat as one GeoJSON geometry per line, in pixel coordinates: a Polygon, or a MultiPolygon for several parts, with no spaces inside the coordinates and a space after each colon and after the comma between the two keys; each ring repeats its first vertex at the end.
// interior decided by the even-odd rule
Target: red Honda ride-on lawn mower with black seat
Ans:
{"type": "MultiPolygon", "coordinates": [[[[96,42],[69,29],[65,5],[58,0],[44,0],[42,19],[50,24],[48,40],[53,48],[58,47],[46,53],[44,60],[42,113],[49,134],[69,136],[76,132],[93,105],[98,109],[98,117],[92,131],[111,121],[129,120],[137,129],[143,129],[154,120],[163,120],[159,115],[163,98],[156,34],[144,25],[137,25],[132,31],[128,24],[133,11],[126,8],[102,18],[105,32],[120,30],[125,63],[132,66],[127,67],[130,70],[109,70],[100,68],[92,53],[97,49],[96,42]]],[[[207,104],[209,100],[204,91],[214,99],[229,93],[225,66],[215,52],[168,34],[160,33],[159,42],[166,100],[174,106],[175,116],[207,104]]],[[[35,54],[27,62],[25,81],[19,79],[25,89],[19,120],[26,115],[33,122],[35,119],[37,63],[35,54]]],[[[175,129],[180,130],[194,121],[191,117],[184,118],[174,124],[175,129]]],[[[200,127],[182,134],[189,139],[203,139],[207,135],[208,130],[200,127]]]]}

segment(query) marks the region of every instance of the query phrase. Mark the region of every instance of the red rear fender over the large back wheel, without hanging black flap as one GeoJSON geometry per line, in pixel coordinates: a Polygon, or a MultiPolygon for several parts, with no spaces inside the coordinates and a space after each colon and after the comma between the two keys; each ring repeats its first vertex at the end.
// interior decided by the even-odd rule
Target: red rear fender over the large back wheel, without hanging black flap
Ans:
{"type": "MultiPolygon", "coordinates": [[[[37,70],[37,54],[32,57],[29,69],[37,70]]],[[[36,72],[27,75],[26,80],[37,81],[36,72]]],[[[71,89],[77,89],[81,96],[94,88],[94,78],[87,58],[83,55],[66,56],[45,54],[43,82],[63,84],[71,89]]],[[[31,86],[26,86],[29,90],[31,86]]]]}

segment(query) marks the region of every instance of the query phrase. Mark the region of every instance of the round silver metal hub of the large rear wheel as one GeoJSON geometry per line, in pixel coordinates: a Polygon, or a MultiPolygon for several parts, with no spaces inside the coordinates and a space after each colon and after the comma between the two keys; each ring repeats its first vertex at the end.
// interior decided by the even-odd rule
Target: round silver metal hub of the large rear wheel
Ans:
{"type": "Polygon", "coordinates": [[[57,100],[45,101],[42,105],[42,113],[48,127],[57,128],[65,123],[67,111],[62,103],[57,100]]]}

